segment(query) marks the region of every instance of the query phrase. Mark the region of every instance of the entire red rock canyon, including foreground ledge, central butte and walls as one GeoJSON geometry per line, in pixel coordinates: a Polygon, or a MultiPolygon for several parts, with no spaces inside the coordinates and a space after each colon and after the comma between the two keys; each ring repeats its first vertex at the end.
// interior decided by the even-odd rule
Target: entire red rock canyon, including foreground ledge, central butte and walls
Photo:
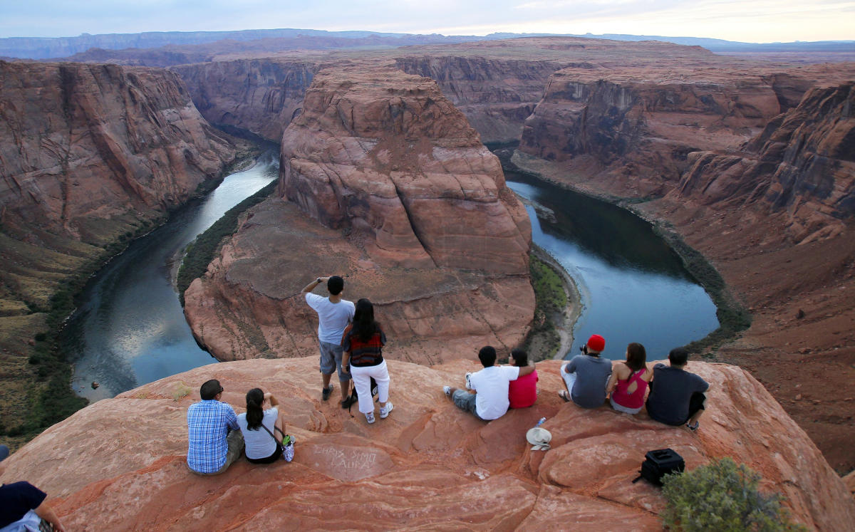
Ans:
{"type": "Polygon", "coordinates": [[[70,525],[328,526],[317,509],[332,497],[342,527],[398,526],[409,509],[414,527],[612,519],[659,529],[661,495],[629,481],[644,452],[668,446],[690,469],[722,456],[749,464],[808,527],[855,520],[834,474],[855,469],[855,63],[522,38],[241,52],[170,70],[0,68],[3,139],[15,139],[0,146],[10,402],[32,383],[17,378],[32,373],[29,340],[44,327],[32,308],[236,157],[237,141],[209,123],[282,143],[276,194],[245,213],[185,294],[199,342],[236,362],[100,401],[10,458],[4,480],[27,471],[70,525]],[[564,405],[551,393],[561,386],[552,361],[539,364],[538,404],[497,422],[442,396],[443,384],[477,369],[467,360],[478,346],[516,346],[531,322],[528,218],[481,145],[513,139],[518,167],[622,204],[702,253],[752,315],[749,328],[700,353],[743,369],[690,363],[714,385],[699,433],[564,405]],[[395,340],[396,408],[385,424],[368,427],[307,392],[318,384],[315,316],[298,290],[333,273],[345,275],[345,297],[369,295],[395,340]],[[191,477],[186,406],[208,378],[221,379],[234,405],[254,386],[287,398],[304,442],[295,463],[272,466],[272,476],[241,462],[221,477],[191,477]],[[553,434],[545,455],[522,443],[540,417],[553,434]],[[396,508],[342,509],[342,482],[396,508]],[[264,494],[251,507],[236,495],[248,487],[264,494]]]}

